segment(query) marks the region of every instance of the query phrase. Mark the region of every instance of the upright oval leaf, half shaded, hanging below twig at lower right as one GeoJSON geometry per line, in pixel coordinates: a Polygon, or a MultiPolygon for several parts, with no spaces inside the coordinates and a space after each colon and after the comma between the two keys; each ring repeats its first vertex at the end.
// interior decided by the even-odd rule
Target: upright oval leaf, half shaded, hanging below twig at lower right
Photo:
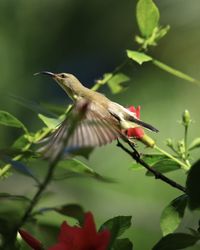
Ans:
{"type": "Polygon", "coordinates": [[[173,233],[179,226],[184,216],[187,199],[187,195],[183,194],[171,201],[170,204],[163,210],[160,219],[160,226],[163,235],[173,233]]]}

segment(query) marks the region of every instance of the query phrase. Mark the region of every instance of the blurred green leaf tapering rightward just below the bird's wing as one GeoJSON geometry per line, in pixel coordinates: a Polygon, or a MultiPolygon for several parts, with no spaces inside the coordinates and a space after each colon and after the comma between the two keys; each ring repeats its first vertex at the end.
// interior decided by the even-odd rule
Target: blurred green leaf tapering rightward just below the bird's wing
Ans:
{"type": "Polygon", "coordinates": [[[64,169],[65,173],[67,171],[68,177],[83,176],[83,177],[92,177],[99,181],[113,182],[111,179],[98,174],[92,168],[88,167],[85,163],[77,159],[68,159],[60,161],[57,167],[64,169]]]}

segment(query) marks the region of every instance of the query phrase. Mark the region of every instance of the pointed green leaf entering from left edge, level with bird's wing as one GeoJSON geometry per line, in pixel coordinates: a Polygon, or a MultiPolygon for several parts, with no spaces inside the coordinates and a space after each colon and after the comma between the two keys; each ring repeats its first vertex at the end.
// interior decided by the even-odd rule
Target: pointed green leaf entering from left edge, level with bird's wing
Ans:
{"type": "Polygon", "coordinates": [[[0,110],[0,124],[9,127],[22,128],[24,132],[28,133],[27,128],[22,122],[20,122],[20,120],[3,110],[0,110]]]}

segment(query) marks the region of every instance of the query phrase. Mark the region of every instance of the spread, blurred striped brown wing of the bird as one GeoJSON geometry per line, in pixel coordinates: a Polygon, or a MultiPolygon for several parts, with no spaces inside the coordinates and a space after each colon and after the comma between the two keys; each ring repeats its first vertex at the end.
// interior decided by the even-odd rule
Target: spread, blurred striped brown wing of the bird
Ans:
{"type": "MultiPolygon", "coordinates": [[[[72,108],[72,114],[78,105],[79,103],[76,103],[72,108]]],[[[94,103],[88,104],[84,117],[69,135],[71,123],[71,116],[67,116],[61,125],[45,139],[45,145],[39,150],[45,158],[54,158],[64,148],[67,153],[73,153],[80,148],[111,143],[122,136],[118,121],[104,107],[94,103]]]]}

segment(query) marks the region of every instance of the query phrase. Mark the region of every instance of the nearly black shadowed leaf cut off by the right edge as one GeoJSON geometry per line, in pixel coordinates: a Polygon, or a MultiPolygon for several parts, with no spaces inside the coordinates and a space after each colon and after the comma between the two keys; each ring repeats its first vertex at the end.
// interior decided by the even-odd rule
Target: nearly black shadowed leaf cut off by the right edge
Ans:
{"type": "Polygon", "coordinates": [[[186,189],[189,196],[189,208],[200,208],[200,160],[198,160],[188,173],[186,189]]]}

